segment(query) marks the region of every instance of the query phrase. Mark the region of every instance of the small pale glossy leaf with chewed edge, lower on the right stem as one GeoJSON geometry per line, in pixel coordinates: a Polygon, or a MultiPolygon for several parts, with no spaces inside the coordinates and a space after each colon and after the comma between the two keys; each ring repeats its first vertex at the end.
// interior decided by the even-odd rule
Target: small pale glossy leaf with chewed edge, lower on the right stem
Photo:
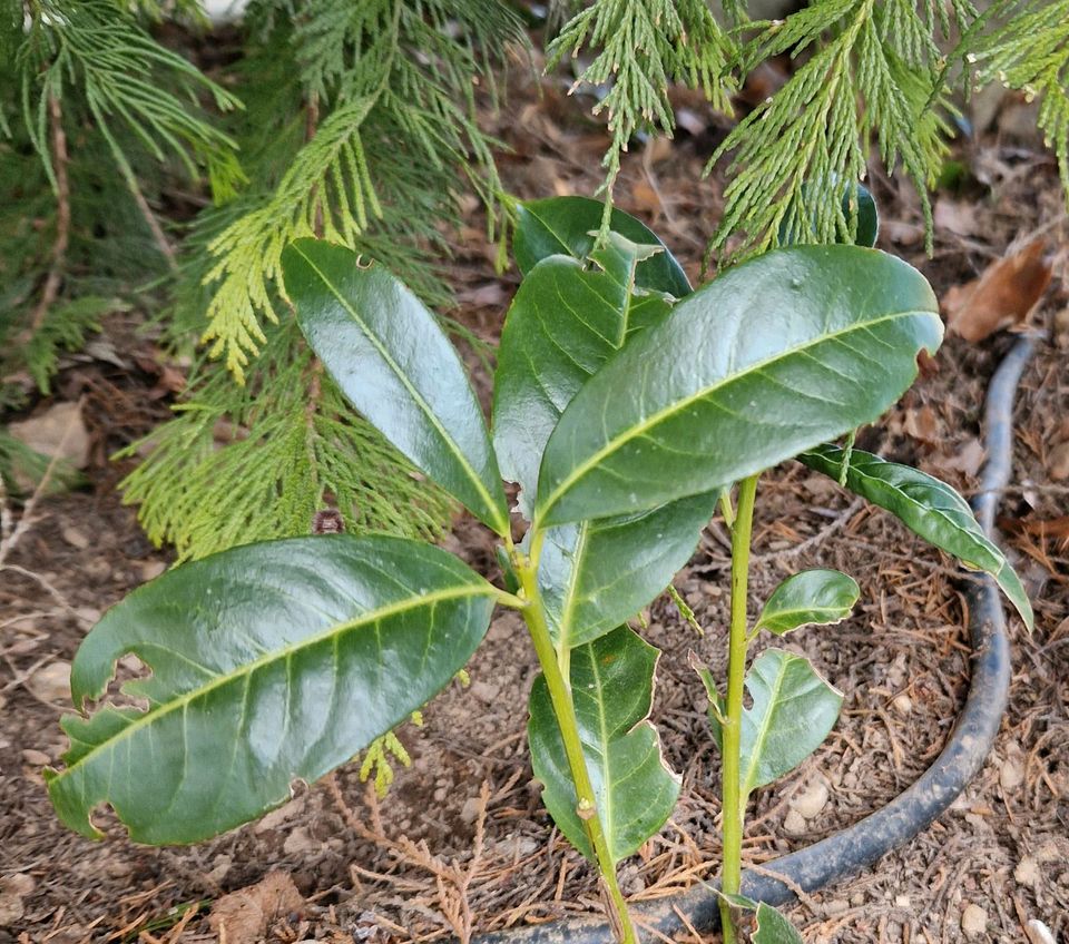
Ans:
{"type": "Polygon", "coordinates": [[[753,701],[743,711],[739,789],[743,797],[790,774],[827,737],[838,718],[842,692],[808,659],[766,649],[749,667],[753,701]]]}

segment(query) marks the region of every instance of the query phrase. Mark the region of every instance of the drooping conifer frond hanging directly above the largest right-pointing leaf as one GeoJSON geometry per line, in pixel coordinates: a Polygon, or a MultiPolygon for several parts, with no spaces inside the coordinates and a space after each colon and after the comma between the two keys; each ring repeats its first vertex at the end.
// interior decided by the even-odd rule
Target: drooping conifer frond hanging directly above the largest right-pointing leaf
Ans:
{"type": "Polygon", "coordinates": [[[713,155],[733,153],[720,225],[709,255],[741,237],[730,258],[779,242],[823,243],[856,225],[841,197],[865,177],[870,142],[901,163],[931,228],[931,186],[947,153],[947,104],[935,94],[942,61],[912,2],[823,0],[765,24],[744,63],[807,53],[787,83],[748,115],[713,155]],[[934,105],[932,105],[932,100],[934,105]]]}

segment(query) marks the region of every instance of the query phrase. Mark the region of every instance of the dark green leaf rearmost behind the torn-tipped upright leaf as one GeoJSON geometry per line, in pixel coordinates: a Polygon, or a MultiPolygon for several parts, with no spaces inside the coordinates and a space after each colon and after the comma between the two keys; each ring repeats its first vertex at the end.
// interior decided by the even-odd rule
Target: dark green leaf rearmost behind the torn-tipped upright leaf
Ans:
{"type": "MultiPolygon", "coordinates": [[[[520,272],[526,275],[548,256],[586,259],[594,247],[592,234],[601,227],[604,212],[605,204],[588,197],[549,197],[518,204],[512,254],[520,272]]],[[[632,243],[664,248],[639,266],[639,286],[667,292],[676,298],[690,294],[683,267],[645,223],[614,207],[609,226],[632,243]]]]}

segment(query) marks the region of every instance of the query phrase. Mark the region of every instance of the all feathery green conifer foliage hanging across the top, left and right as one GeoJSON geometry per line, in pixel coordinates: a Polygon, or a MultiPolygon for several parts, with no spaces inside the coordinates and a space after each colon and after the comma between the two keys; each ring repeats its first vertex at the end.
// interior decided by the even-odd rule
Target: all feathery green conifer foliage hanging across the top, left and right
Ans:
{"type": "MultiPolygon", "coordinates": [[[[783,21],[751,21],[738,0],[555,7],[549,67],[573,60],[578,83],[598,92],[609,197],[621,153],[671,132],[674,82],[729,111],[756,65],[795,60],[715,156],[730,170],[709,243],[720,260],[852,238],[854,204],[805,181],[861,179],[872,147],[914,179],[926,213],[962,83],[1038,96],[1069,180],[1063,0],[997,0],[982,17],[969,0],[817,0],[783,21]]],[[[279,258],[317,234],[441,307],[433,260],[448,253],[460,194],[479,195],[491,235],[502,222],[475,94],[492,104],[508,48],[529,43],[517,7],[253,0],[210,79],[157,41],[168,21],[192,36],[207,27],[196,0],[0,0],[0,405],[23,397],[26,366],[47,393],[65,350],[122,305],[149,307],[168,350],[194,362],[176,419],[130,450],[140,466],[125,494],[153,540],[196,558],[302,532],[324,501],[354,528],[432,535],[444,495],[413,489],[411,468],[361,417],[339,420],[337,393],[281,299],[279,258]],[[165,222],[189,215],[198,186],[210,205],[165,222]],[[146,285],[156,291],[133,292],[146,285]],[[282,424],[286,446],[274,442],[282,424]]]]}

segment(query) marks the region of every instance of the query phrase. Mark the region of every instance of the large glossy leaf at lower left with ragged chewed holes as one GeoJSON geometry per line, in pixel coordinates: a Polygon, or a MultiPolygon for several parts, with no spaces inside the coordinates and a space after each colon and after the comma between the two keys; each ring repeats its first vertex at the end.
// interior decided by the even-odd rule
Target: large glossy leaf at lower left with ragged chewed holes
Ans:
{"type": "Polygon", "coordinates": [[[452,554],[345,534],[247,544],[169,571],[108,611],[75,658],[75,705],[116,661],[150,670],[146,711],[68,715],[60,818],[97,836],[110,804],[139,843],[193,843],[246,823],[344,764],[445,686],[498,591],[452,554]]]}

